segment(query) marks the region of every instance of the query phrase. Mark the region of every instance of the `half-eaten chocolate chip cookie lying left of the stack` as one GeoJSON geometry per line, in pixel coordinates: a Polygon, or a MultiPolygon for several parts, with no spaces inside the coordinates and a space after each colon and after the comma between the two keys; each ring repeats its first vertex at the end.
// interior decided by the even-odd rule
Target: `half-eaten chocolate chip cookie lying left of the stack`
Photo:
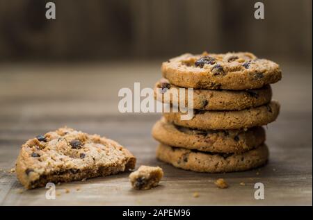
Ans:
{"type": "Polygon", "coordinates": [[[118,174],[135,164],[134,155],[111,139],[59,128],[22,145],[16,173],[19,182],[31,189],[49,182],[118,174]]]}

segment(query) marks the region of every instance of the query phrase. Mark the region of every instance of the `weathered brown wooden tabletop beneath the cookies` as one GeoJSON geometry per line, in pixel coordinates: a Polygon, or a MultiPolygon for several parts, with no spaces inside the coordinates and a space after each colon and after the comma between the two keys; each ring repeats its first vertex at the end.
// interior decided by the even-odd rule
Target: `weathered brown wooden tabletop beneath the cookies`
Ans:
{"type": "Polygon", "coordinates": [[[246,172],[198,174],[156,160],[157,142],[150,130],[160,114],[118,112],[120,87],[132,88],[134,82],[151,87],[160,76],[159,62],[1,65],[0,167],[4,171],[0,172],[0,204],[312,205],[312,67],[282,64],[282,69],[283,80],[273,85],[274,99],[282,103],[281,114],[266,129],[268,164],[246,172]],[[22,190],[15,174],[7,172],[15,165],[19,146],[64,125],[117,140],[136,155],[137,166],[162,167],[161,185],[135,191],[129,174],[119,174],[57,185],[61,194],[56,200],[45,198],[45,188],[22,190]],[[217,178],[224,178],[230,187],[216,188],[217,178]],[[264,183],[264,200],[253,196],[257,182],[264,183]],[[66,189],[70,192],[65,193],[66,189]]]}

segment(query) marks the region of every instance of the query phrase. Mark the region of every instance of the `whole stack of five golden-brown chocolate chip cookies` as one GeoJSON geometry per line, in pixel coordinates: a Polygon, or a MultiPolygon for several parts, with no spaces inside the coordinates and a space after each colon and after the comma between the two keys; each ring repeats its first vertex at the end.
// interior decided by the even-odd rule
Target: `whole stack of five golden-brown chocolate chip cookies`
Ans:
{"type": "Polygon", "coordinates": [[[187,94],[187,88],[193,88],[193,117],[183,120],[182,112],[163,112],[152,128],[160,142],[159,160],[209,173],[243,171],[266,163],[262,126],[279,114],[269,85],[282,78],[278,64],[252,53],[188,53],[163,62],[161,69],[164,78],[154,87],[156,99],[173,106],[179,92],[175,101],[167,93],[183,88],[187,94]]]}

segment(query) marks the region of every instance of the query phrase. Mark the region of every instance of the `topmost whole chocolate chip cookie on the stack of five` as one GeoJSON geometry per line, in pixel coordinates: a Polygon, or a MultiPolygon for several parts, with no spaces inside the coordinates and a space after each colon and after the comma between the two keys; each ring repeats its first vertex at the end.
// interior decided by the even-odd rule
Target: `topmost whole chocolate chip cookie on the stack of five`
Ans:
{"type": "Polygon", "coordinates": [[[280,66],[252,53],[183,54],[163,62],[162,74],[171,84],[207,90],[251,90],[276,83],[280,66]]]}

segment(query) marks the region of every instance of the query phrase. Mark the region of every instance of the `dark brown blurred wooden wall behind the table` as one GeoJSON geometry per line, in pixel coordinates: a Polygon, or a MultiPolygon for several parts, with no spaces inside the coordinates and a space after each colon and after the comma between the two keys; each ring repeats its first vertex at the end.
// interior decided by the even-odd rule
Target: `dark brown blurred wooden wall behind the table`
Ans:
{"type": "Polygon", "coordinates": [[[312,1],[0,0],[0,62],[169,58],[190,51],[253,51],[312,60],[312,1]]]}

